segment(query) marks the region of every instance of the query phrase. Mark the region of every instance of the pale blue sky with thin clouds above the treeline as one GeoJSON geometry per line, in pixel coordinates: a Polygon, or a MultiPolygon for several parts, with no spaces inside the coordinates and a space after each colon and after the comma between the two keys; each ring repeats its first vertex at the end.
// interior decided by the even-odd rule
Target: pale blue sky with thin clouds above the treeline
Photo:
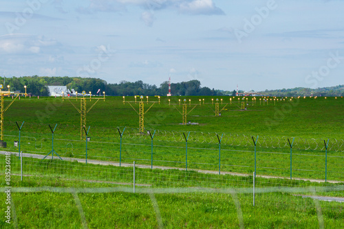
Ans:
{"type": "MultiPolygon", "coordinates": [[[[1,0],[0,75],[344,84],[341,0],[1,0]]],[[[173,92],[172,92],[173,93],[173,92]]]]}

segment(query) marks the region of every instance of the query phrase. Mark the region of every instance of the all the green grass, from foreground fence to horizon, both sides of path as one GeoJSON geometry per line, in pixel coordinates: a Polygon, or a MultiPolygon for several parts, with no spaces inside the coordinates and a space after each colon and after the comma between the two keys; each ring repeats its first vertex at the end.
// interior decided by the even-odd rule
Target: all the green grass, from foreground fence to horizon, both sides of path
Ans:
{"type": "MultiPolygon", "coordinates": [[[[241,103],[228,104],[221,117],[215,117],[213,97],[167,97],[160,99],[144,116],[144,128],[156,130],[151,154],[151,138],[140,134],[138,115],[122,103],[122,97],[100,99],[87,114],[90,125],[87,157],[89,160],[109,160],[188,169],[219,169],[219,144],[222,136],[221,171],[244,173],[250,176],[219,176],[195,171],[137,169],[137,193],[132,193],[132,167],[85,165],[78,162],[23,158],[24,174],[12,176],[12,187],[62,188],[43,191],[13,191],[18,228],[343,228],[343,202],[316,202],[303,195],[343,197],[343,184],[314,183],[301,180],[257,178],[256,206],[252,206],[252,172],[254,145],[257,141],[257,175],[290,176],[290,147],[287,138],[295,138],[292,148],[293,178],[325,179],[325,149],[323,140],[330,138],[327,152],[327,180],[344,180],[344,100],[318,97],[259,101],[247,110],[241,103]],[[191,99],[200,104],[187,120],[199,125],[180,125],[182,106],[178,99],[191,99]],[[203,104],[205,99],[206,104],[203,104]],[[176,104],[173,106],[172,104],[176,104]],[[180,112],[176,109],[178,108],[180,112]],[[117,127],[123,131],[122,147],[117,127]],[[313,139],[313,140],[312,140],[313,139]],[[279,143],[277,143],[279,142],[279,143]],[[91,182],[92,181],[92,182],[91,182]],[[96,181],[96,182],[95,182],[96,181]],[[316,191],[297,191],[297,188],[316,186],[316,191]],[[267,187],[274,190],[268,191],[267,187]],[[292,187],[290,191],[284,188],[292,187]],[[70,191],[73,188],[77,191],[70,191]],[[182,188],[178,192],[174,189],[182,188]],[[198,189],[207,191],[197,191],[198,189]],[[227,189],[237,190],[231,194],[227,189]],[[328,188],[328,190],[327,190],[328,188]],[[91,189],[91,191],[85,190],[91,189]],[[105,189],[105,192],[103,192],[105,189]],[[171,190],[172,189],[172,190],[171,190]],[[187,190],[193,190],[190,193],[187,190]],[[281,191],[279,191],[281,189],[281,191]],[[69,191],[68,191],[69,190],[69,191]],[[107,190],[107,191],[106,191],[107,190]],[[152,190],[153,195],[149,194],[152,190]],[[162,190],[162,191],[160,191],[162,190]],[[185,191],[186,190],[186,191],[185,191]],[[210,190],[210,191],[209,191],[210,190]],[[226,190],[226,193],[223,193],[226,190]],[[160,191],[160,192],[159,192],[160,191]],[[250,193],[251,192],[251,193],[250,193]],[[238,205],[239,203],[239,205],[238,205]],[[82,206],[83,213],[80,213],[82,206]],[[158,208],[157,208],[158,206],[158,208]],[[157,211],[158,209],[158,211],[157,211]],[[238,211],[238,209],[240,209],[238,211]],[[319,212],[319,209],[320,212],[319,212]]],[[[215,100],[217,97],[214,97],[215,100]]],[[[157,101],[157,98],[149,98],[157,101]]],[[[230,97],[218,97],[229,103],[230,97]]],[[[248,98],[252,99],[252,98],[248,98]]],[[[270,99],[270,98],[269,98],[270,99]]],[[[279,98],[280,99],[280,98],[279,98]]],[[[6,104],[12,99],[6,98],[6,104]]],[[[125,97],[125,101],[134,101],[125,97]]],[[[239,101],[242,101],[241,97],[239,101]]],[[[93,101],[87,100],[87,107],[93,101]]],[[[225,104],[219,102],[219,110],[225,104]]],[[[80,107],[80,101],[74,101],[80,107]]],[[[138,104],[132,104],[138,109],[138,104]]],[[[144,109],[149,108],[144,104],[144,109]]],[[[188,106],[191,110],[193,106],[188,106]]],[[[21,150],[24,153],[47,154],[52,149],[52,134],[48,124],[55,125],[54,150],[61,156],[85,158],[85,140],[80,141],[80,114],[65,99],[41,97],[14,101],[4,115],[4,141],[8,150],[18,152],[13,141],[19,140],[15,121],[25,121],[21,131],[21,150]]],[[[56,156],[54,156],[56,158],[56,156]]],[[[1,169],[5,171],[4,156],[1,169]]],[[[12,174],[19,173],[19,160],[12,156],[12,174]]],[[[6,186],[1,173],[1,187],[6,186]]],[[[73,190],[72,189],[72,190],[73,190]]],[[[6,195],[1,193],[2,200],[6,195]]],[[[0,208],[6,208],[5,201],[0,208]]],[[[1,217],[0,227],[8,224],[1,217]]],[[[14,225],[12,224],[12,226],[14,225]]],[[[15,226],[14,226],[15,228],[15,226]]]]}

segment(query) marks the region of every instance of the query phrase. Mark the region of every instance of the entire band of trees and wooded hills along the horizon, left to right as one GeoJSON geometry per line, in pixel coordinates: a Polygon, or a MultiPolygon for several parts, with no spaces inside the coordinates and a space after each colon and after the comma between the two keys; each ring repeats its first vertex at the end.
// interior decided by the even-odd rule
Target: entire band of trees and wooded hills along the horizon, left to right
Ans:
{"type": "MultiPolygon", "coordinates": [[[[89,91],[95,94],[98,89],[105,91],[107,95],[166,95],[169,92],[169,82],[165,81],[160,86],[154,84],[145,84],[141,80],[136,82],[122,81],[119,84],[107,84],[105,80],[96,78],[83,77],[44,77],[44,76],[23,76],[23,77],[0,77],[0,84],[3,84],[3,90],[7,90],[10,85],[10,91],[25,92],[24,86],[27,87],[27,93],[32,95],[47,96],[49,91],[47,86],[67,86],[67,88],[75,91],[89,91]]],[[[239,91],[241,92],[241,91],[239,91]]],[[[189,82],[180,82],[171,84],[172,95],[235,95],[236,91],[219,91],[202,87],[200,81],[191,80],[189,82]]],[[[259,92],[269,96],[344,96],[344,85],[331,86],[326,88],[290,88],[272,91],[259,92]]]]}

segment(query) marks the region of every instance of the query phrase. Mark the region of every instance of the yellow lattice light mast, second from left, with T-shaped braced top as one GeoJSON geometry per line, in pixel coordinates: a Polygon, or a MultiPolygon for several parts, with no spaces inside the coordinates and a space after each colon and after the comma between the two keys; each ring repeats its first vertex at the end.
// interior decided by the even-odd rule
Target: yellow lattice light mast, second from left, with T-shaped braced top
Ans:
{"type": "MultiPolygon", "coordinates": [[[[98,98],[94,98],[94,97],[92,98],[92,93],[89,92],[89,101],[91,101],[92,99],[96,99],[96,101],[87,110],[86,99],[88,99],[88,97],[85,97],[85,95],[86,95],[85,91],[83,91],[81,94],[83,95],[83,97],[78,97],[78,92],[76,92],[76,97],[64,97],[63,96],[63,99],[68,99],[70,104],[72,104],[74,106],[74,108],[80,113],[80,140],[83,140],[83,138],[85,136],[85,132],[84,132],[83,128],[86,126],[86,115],[89,112],[89,110],[91,110],[94,107],[94,105],[96,105],[96,103],[101,98],[99,98],[99,97],[98,98]],[[72,103],[72,101],[70,101],[70,99],[76,99],[76,100],[80,99],[80,109],[77,108],[72,103]]],[[[62,94],[62,95],[64,95],[64,94],[62,94]]],[[[105,91],[103,91],[103,95],[104,95],[103,99],[105,101],[105,91]]]]}

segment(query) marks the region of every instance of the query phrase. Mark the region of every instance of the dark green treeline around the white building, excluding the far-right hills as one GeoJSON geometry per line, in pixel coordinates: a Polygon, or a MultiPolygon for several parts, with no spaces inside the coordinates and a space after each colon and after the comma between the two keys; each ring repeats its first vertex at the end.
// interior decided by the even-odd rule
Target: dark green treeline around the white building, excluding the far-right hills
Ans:
{"type": "MultiPolygon", "coordinates": [[[[10,91],[25,92],[24,86],[27,87],[27,93],[32,95],[47,96],[49,91],[47,86],[67,86],[75,91],[89,91],[95,94],[98,89],[105,91],[107,95],[166,95],[169,92],[169,83],[163,82],[160,86],[154,84],[145,84],[141,80],[136,82],[122,81],[119,84],[107,84],[105,80],[96,78],[83,77],[42,77],[38,75],[23,77],[0,77],[0,83],[3,88],[10,85],[10,91]]],[[[171,84],[172,95],[222,95],[221,92],[215,91],[214,88],[202,87],[200,81],[191,80],[189,82],[180,82],[171,84]]]]}

